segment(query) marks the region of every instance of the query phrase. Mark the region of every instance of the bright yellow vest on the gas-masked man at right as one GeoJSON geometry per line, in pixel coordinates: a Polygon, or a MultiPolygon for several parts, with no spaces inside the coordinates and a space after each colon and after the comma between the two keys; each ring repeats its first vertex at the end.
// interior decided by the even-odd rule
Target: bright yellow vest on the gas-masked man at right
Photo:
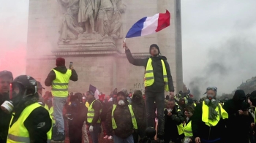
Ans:
{"type": "Polygon", "coordinates": [[[203,101],[202,110],[203,110],[202,121],[210,127],[217,125],[217,123],[219,123],[220,117],[222,117],[222,119],[227,119],[228,118],[228,114],[225,111],[225,109],[222,108],[221,104],[219,104],[215,108],[215,111],[219,113],[218,116],[217,116],[217,120],[209,120],[208,119],[209,107],[206,105],[205,101],[203,101]],[[219,109],[220,109],[220,111],[219,111],[219,109]]]}

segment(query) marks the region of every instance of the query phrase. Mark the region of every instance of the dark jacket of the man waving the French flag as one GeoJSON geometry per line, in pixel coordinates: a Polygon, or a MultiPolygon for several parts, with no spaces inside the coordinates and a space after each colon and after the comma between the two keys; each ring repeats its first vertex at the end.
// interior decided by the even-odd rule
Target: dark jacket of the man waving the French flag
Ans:
{"type": "MultiPolygon", "coordinates": [[[[132,63],[135,66],[144,66],[146,69],[149,58],[143,58],[143,59],[133,58],[130,50],[125,50],[125,53],[127,55],[127,59],[129,63],[132,63]]],[[[152,59],[154,83],[151,86],[145,87],[145,90],[154,91],[154,92],[162,92],[163,90],[165,90],[165,82],[162,74],[163,71],[162,71],[162,61],[161,61],[163,60],[165,61],[169,90],[174,91],[173,77],[170,74],[170,66],[169,66],[169,63],[167,63],[167,58],[161,55],[159,55],[158,57],[150,57],[150,58],[152,59]]]]}

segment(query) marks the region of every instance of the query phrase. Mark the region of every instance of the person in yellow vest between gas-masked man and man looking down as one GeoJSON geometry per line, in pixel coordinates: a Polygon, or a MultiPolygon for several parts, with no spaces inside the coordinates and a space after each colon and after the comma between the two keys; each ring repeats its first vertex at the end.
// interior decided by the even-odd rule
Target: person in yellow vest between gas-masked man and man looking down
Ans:
{"type": "Polygon", "coordinates": [[[184,139],[184,143],[191,143],[194,142],[195,139],[193,138],[193,132],[192,132],[192,127],[191,127],[191,123],[192,123],[192,115],[194,113],[195,109],[192,106],[188,106],[185,109],[184,115],[186,115],[186,121],[184,123],[184,135],[185,135],[185,139],[184,139]]]}

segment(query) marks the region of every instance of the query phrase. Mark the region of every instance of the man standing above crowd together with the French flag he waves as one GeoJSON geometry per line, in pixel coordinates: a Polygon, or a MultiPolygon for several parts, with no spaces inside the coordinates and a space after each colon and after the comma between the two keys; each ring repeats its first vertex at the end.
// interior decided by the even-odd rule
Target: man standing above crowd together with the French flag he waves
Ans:
{"type": "MultiPolygon", "coordinates": [[[[145,17],[138,20],[138,22],[129,29],[126,38],[154,34],[167,26],[170,26],[170,12],[166,10],[165,13],[158,13],[152,17],[145,17]]],[[[147,126],[154,127],[155,102],[158,118],[157,137],[159,142],[164,142],[165,90],[170,91],[170,95],[174,96],[173,78],[170,74],[170,66],[167,63],[167,58],[160,55],[159,47],[155,44],[149,47],[151,57],[145,59],[133,58],[132,53],[125,43],[125,39],[123,47],[125,47],[125,53],[129,63],[135,66],[144,66],[146,69],[144,85],[147,126]]]]}

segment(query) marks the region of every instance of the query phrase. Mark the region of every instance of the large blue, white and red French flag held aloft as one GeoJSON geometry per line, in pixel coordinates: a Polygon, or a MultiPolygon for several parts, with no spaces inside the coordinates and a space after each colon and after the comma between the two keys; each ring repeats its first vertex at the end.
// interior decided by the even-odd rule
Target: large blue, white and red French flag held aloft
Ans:
{"type": "Polygon", "coordinates": [[[154,34],[168,26],[170,26],[170,12],[166,10],[165,13],[157,13],[152,17],[145,17],[138,20],[138,22],[129,29],[125,38],[154,34]]]}

